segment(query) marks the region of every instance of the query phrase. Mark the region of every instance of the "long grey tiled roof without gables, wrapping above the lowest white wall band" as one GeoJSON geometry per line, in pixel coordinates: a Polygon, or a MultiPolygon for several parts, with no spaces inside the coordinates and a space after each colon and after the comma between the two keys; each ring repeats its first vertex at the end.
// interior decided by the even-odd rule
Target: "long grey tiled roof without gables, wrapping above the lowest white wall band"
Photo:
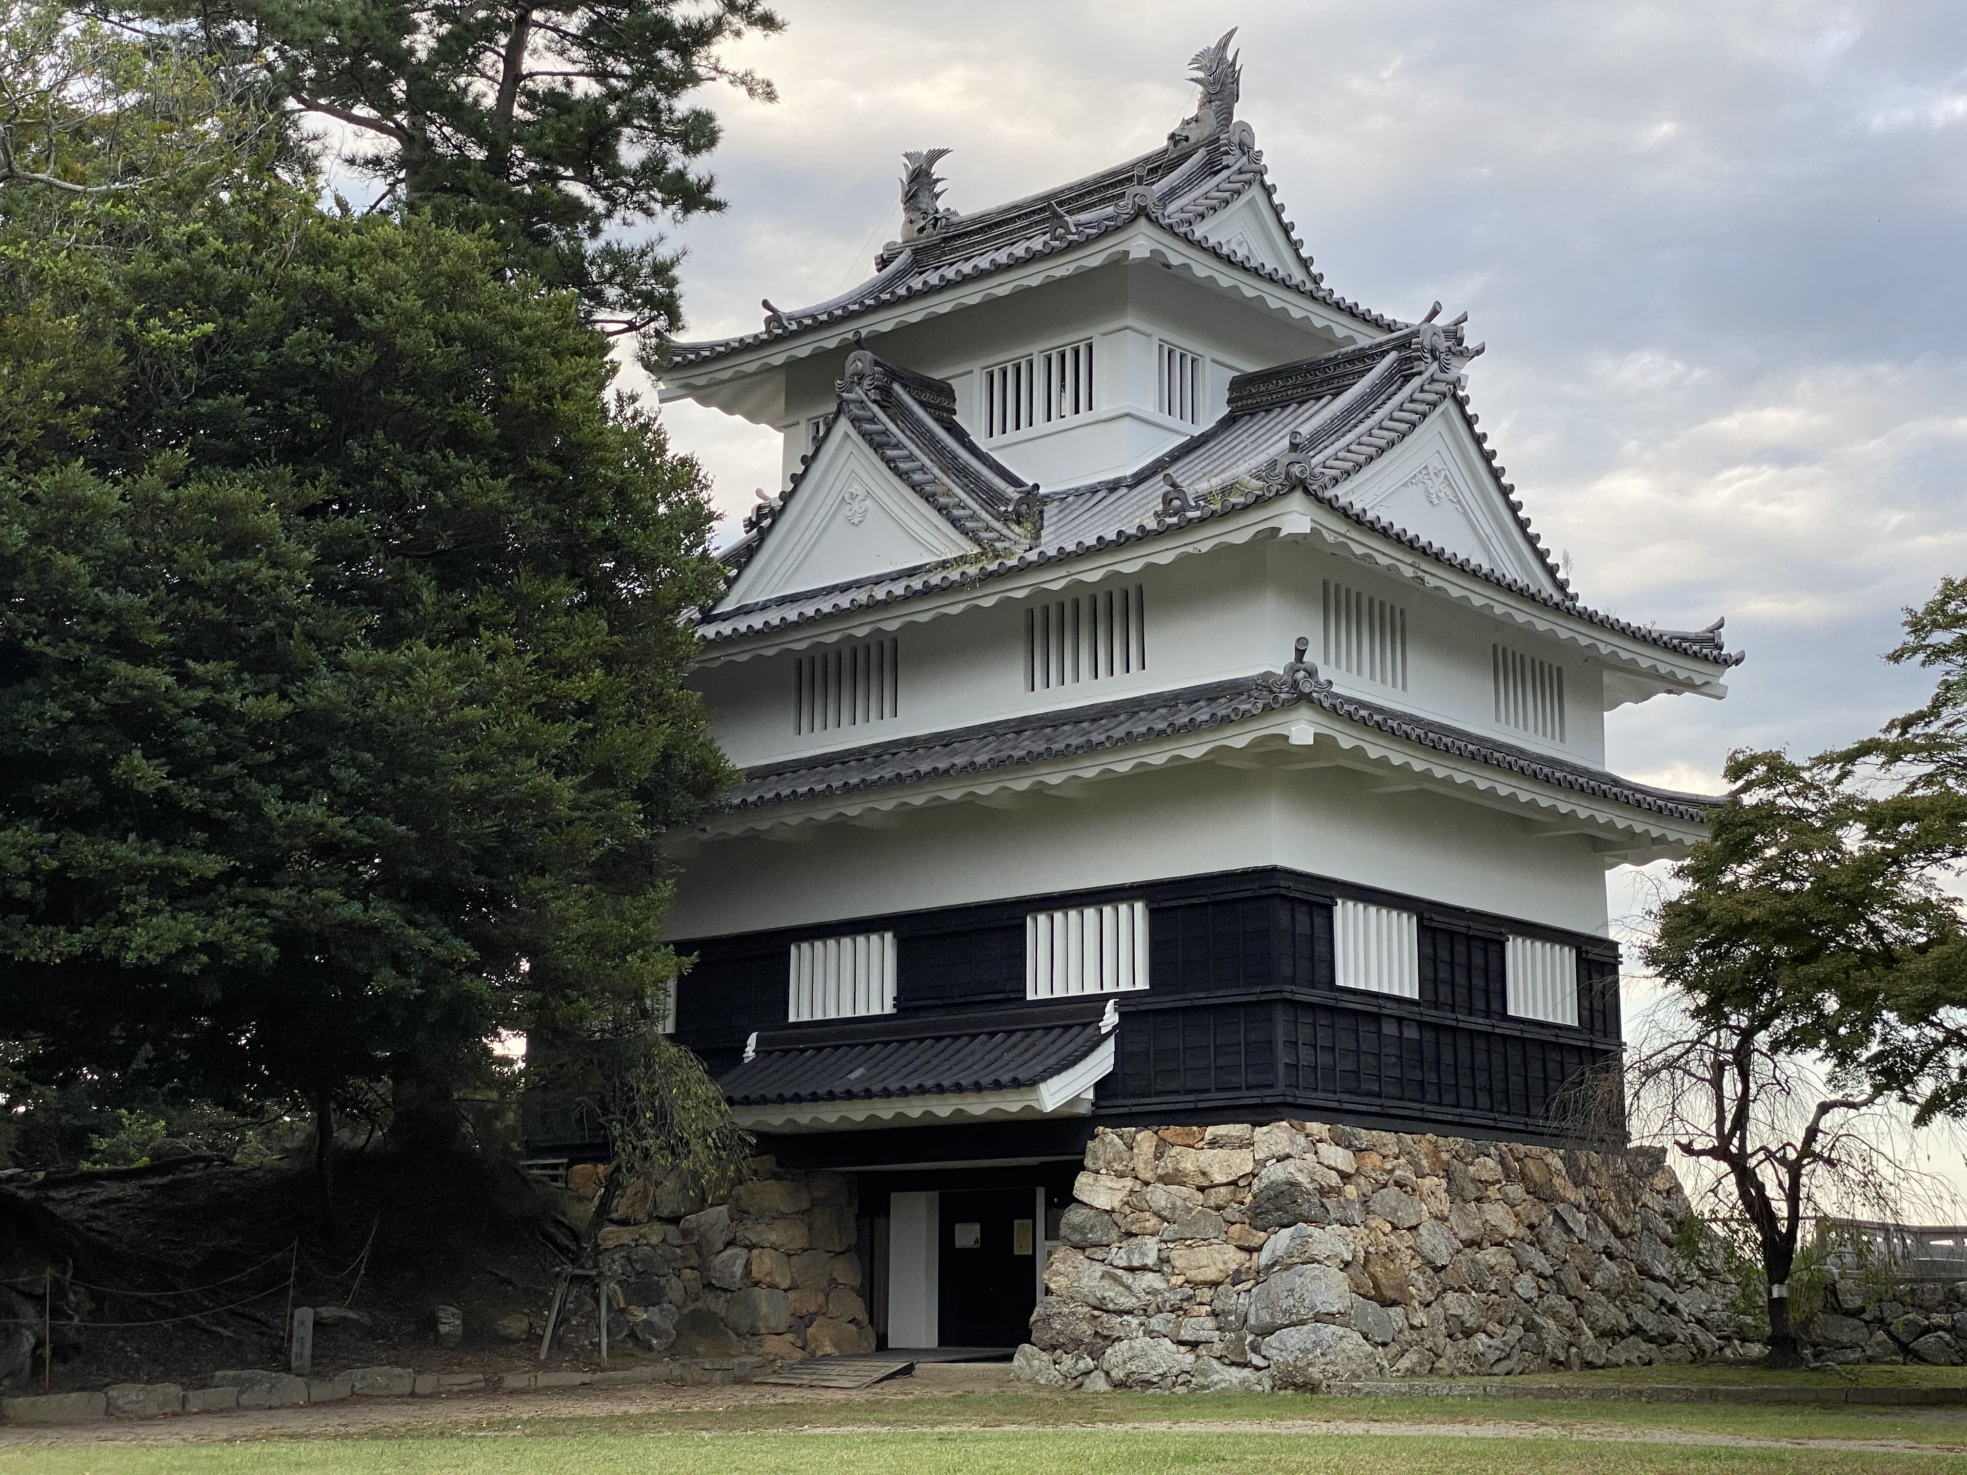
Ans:
{"type": "Polygon", "coordinates": [[[738,785],[732,808],[761,810],[797,800],[1015,769],[1229,726],[1300,702],[1438,753],[1676,820],[1703,820],[1719,802],[1705,795],[1650,789],[1603,769],[1343,696],[1304,667],[1292,667],[1282,675],[1218,680],[1066,712],[1041,712],[1019,722],[989,722],[755,767],[738,785]]]}

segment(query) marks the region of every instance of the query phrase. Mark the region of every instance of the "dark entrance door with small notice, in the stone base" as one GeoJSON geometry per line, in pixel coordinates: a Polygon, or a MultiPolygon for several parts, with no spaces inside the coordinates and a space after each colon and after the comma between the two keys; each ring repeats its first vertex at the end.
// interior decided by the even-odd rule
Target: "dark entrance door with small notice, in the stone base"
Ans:
{"type": "Polygon", "coordinates": [[[938,1339],[944,1347],[1015,1347],[1039,1300],[1035,1188],[942,1194],[938,1339]]]}

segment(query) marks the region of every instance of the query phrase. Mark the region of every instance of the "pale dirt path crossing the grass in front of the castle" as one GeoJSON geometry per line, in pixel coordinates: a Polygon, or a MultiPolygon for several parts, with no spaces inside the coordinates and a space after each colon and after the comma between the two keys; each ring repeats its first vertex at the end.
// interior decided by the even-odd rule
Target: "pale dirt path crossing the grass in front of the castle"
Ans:
{"type": "MultiPolygon", "coordinates": [[[[671,1388],[671,1386],[626,1386],[626,1388],[563,1388],[547,1392],[484,1392],[460,1394],[454,1398],[376,1398],[348,1400],[336,1404],[315,1404],[309,1408],[262,1408],[232,1414],[191,1414],[185,1418],[142,1420],[142,1422],[100,1422],[61,1428],[0,1428],[0,1449],[28,1446],[102,1446],[102,1444],[242,1444],[256,1440],[336,1440],[380,1434],[458,1434],[466,1438],[500,1438],[523,1432],[525,1426],[563,1418],[606,1418],[612,1414],[710,1414],[726,1408],[757,1408],[801,1404],[812,1410],[812,1430],[836,1434],[911,1434],[911,1432],[1007,1432],[1017,1424],[950,1424],[924,1418],[911,1422],[897,1418],[893,1424],[840,1424],[828,1420],[826,1410],[840,1404],[895,1402],[907,1404],[924,1396],[950,1396],[964,1392],[1015,1392],[1019,1385],[1011,1381],[1009,1367],[1003,1365],[950,1365],[932,1363],[917,1369],[915,1377],[895,1379],[860,1392],[830,1388],[771,1388],[761,1385],[714,1386],[714,1388],[671,1388]]],[[[1060,1410],[1064,1414],[1064,1410],[1060,1410]]],[[[1044,1428],[1088,1428],[1121,1434],[1343,1434],[1381,1438],[1473,1438],[1473,1440],[1585,1440],[1607,1444],[1664,1444],[1664,1446],[1725,1446],[1745,1449],[1851,1449],[1851,1451],[1906,1451],[1906,1453],[1963,1453],[1967,1451],[1967,1418],[1951,1410],[1906,1410],[1906,1418],[1934,1424],[1959,1426],[1957,1444],[1918,1444],[1910,1440],[1770,1440],[1741,1434],[1715,1434],[1699,1430],[1633,1428],[1619,1424],[1534,1424],[1507,1418],[1469,1418],[1440,1424],[1402,1424],[1395,1420],[1086,1420],[1080,1424],[1070,1416],[1048,1420],[1044,1428]]],[[[732,1430],[744,1436],[785,1436],[803,1434],[801,1428],[775,1430],[732,1430]]],[[[714,1432],[692,1432],[692,1438],[728,1438],[714,1432]]]]}

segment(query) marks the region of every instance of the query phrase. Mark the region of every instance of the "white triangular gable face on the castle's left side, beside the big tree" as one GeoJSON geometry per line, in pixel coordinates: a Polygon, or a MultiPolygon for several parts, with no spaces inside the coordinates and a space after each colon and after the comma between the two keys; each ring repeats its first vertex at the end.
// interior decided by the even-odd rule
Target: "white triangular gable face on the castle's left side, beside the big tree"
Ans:
{"type": "Polygon", "coordinates": [[[974,553],[980,547],[903,484],[842,417],[718,608],[974,553]]]}

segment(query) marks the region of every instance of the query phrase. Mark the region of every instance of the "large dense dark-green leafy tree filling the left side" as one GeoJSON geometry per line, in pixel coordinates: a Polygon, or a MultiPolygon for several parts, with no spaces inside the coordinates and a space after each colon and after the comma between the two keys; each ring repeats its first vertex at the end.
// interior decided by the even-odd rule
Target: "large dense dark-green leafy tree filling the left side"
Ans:
{"type": "Polygon", "coordinates": [[[228,169],[0,187],[0,332],[90,346],[0,378],[6,1058],[441,1141],[675,975],[704,484],[490,236],[228,169]]]}

